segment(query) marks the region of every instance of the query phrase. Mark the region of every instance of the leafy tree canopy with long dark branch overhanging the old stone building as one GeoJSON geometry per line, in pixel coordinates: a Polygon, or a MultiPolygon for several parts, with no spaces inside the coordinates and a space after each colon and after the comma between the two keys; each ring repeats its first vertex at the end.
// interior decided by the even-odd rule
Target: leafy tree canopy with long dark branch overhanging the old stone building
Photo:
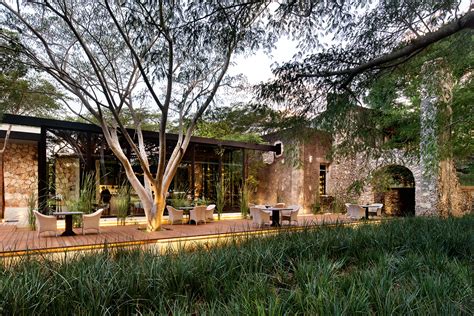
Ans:
{"type": "MultiPolygon", "coordinates": [[[[462,11],[460,4],[460,1],[429,0],[375,4],[345,1],[343,5],[331,2],[325,6],[289,2],[281,7],[272,23],[277,29],[293,34],[300,41],[301,51],[293,61],[274,69],[276,78],[258,87],[259,96],[283,102],[298,109],[302,116],[315,118],[316,126],[346,136],[347,142],[341,143],[346,153],[360,151],[367,145],[374,147],[376,136],[383,133],[395,136],[392,145],[402,142],[413,145],[417,139],[412,132],[419,128],[416,102],[411,103],[415,111],[404,112],[392,101],[400,97],[400,82],[408,77],[407,73],[403,78],[403,71],[415,66],[412,69],[418,73],[412,71],[412,79],[419,74],[420,61],[436,58],[433,47],[436,49],[441,44],[435,44],[457,38],[456,53],[464,57],[468,54],[474,12],[472,6],[462,11]],[[332,41],[327,34],[332,35],[332,41]],[[420,58],[413,62],[416,57],[420,58]],[[369,91],[371,96],[366,98],[369,91]],[[367,106],[375,105],[376,94],[385,98],[379,101],[389,102],[389,106],[375,106],[375,111],[367,111],[367,106]],[[401,133],[394,133],[396,130],[401,133]]],[[[451,48],[455,46],[451,42],[451,48]]],[[[442,50],[442,54],[452,53],[446,55],[447,51],[442,50]]],[[[420,77],[417,80],[420,82],[420,77]]],[[[407,84],[407,89],[402,89],[413,92],[417,87],[420,85],[407,84]]],[[[411,96],[415,98],[413,93],[411,96]]],[[[418,94],[418,101],[419,97],[418,94]]]]}

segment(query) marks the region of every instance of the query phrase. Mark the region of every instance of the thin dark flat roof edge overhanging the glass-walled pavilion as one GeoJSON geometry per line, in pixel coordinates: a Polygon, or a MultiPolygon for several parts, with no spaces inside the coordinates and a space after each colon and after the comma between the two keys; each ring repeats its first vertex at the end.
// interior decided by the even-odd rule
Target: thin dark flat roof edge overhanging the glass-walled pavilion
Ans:
{"type": "MultiPolygon", "coordinates": [[[[99,126],[94,125],[94,124],[60,121],[60,120],[53,120],[53,119],[46,119],[46,118],[38,118],[38,117],[33,117],[33,116],[4,114],[2,123],[40,127],[40,128],[46,128],[46,129],[60,129],[60,130],[70,130],[70,131],[76,131],[76,132],[90,132],[90,133],[102,134],[102,129],[99,126]]],[[[133,129],[128,129],[128,131],[130,134],[132,135],[134,134],[133,129]]],[[[159,139],[158,132],[143,131],[143,136],[147,139],[156,139],[156,140],[159,139]]],[[[178,135],[166,134],[166,139],[170,141],[176,141],[178,139],[178,135]]],[[[274,145],[253,144],[253,143],[237,142],[237,141],[232,141],[232,140],[220,140],[220,139],[197,137],[197,136],[191,137],[191,143],[223,146],[223,147],[233,147],[233,148],[245,148],[245,149],[260,150],[260,151],[278,152],[280,150],[279,146],[274,146],[274,145]]]]}

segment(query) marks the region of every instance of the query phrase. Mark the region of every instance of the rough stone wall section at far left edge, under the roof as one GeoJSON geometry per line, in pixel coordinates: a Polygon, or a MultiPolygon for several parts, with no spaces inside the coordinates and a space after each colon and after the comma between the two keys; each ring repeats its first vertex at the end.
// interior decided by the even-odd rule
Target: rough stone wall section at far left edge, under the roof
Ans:
{"type": "Polygon", "coordinates": [[[10,140],[4,154],[5,209],[27,207],[38,193],[37,146],[10,140]]]}

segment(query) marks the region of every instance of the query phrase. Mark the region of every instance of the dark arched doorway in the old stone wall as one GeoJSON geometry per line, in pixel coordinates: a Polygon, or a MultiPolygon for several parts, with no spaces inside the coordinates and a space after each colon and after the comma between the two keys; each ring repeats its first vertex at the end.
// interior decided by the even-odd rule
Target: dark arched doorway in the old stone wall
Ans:
{"type": "Polygon", "coordinates": [[[407,167],[390,165],[373,173],[374,201],[383,203],[384,213],[393,216],[415,215],[415,178],[407,167]]]}

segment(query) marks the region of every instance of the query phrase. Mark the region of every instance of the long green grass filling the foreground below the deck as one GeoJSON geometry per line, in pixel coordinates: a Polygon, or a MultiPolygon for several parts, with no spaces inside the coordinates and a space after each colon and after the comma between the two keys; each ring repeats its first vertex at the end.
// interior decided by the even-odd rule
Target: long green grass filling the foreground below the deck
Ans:
{"type": "Polygon", "coordinates": [[[474,313],[474,216],[104,249],[0,268],[0,314],[474,313]]]}

